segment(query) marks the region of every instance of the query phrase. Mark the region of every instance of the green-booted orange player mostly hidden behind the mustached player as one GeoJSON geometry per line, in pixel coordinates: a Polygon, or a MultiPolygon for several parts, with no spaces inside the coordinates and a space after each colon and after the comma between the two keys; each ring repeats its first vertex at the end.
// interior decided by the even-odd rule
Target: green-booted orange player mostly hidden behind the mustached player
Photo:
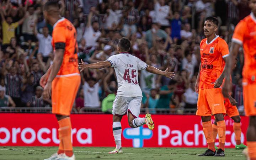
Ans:
{"type": "MultiPolygon", "coordinates": [[[[237,63],[238,59],[236,59],[236,63],[237,63]]],[[[236,63],[233,66],[233,70],[236,68],[236,63]]],[[[233,123],[233,129],[235,132],[235,140],[236,140],[236,145],[235,145],[235,149],[245,149],[246,145],[241,143],[241,118],[238,112],[238,109],[236,107],[236,101],[233,97],[231,97],[231,95],[229,94],[228,97],[224,97],[224,105],[225,105],[225,109],[226,109],[226,114],[234,120],[233,123]]],[[[217,122],[214,121],[213,123],[213,139],[214,142],[216,140],[218,134],[218,129],[217,129],[217,122]]],[[[215,147],[216,148],[216,147],[215,147]]]]}

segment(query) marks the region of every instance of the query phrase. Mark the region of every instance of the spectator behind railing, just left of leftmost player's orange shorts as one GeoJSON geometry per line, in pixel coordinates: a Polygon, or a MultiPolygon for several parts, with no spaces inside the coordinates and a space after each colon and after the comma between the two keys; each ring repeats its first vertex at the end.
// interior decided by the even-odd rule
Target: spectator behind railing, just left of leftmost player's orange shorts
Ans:
{"type": "Polygon", "coordinates": [[[36,95],[31,97],[31,100],[27,102],[28,107],[48,107],[52,103],[51,100],[43,100],[43,88],[41,86],[36,87],[36,95]]]}

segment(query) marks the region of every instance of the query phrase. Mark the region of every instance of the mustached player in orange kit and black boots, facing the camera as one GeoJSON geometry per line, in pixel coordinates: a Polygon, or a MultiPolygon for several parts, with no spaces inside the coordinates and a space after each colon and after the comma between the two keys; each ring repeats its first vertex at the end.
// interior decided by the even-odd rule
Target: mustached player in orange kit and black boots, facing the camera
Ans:
{"type": "Polygon", "coordinates": [[[198,95],[196,115],[201,116],[203,132],[206,137],[208,149],[199,156],[225,156],[226,114],[222,85],[225,72],[225,61],[229,56],[228,44],[215,33],[218,30],[218,19],[207,17],[204,22],[204,38],[200,43],[201,63],[197,75],[195,90],[198,95]],[[219,148],[214,148],[213,127],[211,116],[217,121],[219,134],[219,148]]]}

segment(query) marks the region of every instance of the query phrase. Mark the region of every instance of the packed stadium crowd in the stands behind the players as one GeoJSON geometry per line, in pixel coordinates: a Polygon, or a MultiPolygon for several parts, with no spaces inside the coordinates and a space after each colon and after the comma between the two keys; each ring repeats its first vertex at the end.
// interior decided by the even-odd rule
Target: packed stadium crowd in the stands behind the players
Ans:
{"type": "MultiPolygon", "coordinates": [[[[53,28],[43,18],[45,1],[1,0],[0,107],[50,107],[51,100],[43,100],[39,86],[54,58],[53,28]]],[[[130,54],[176,73],[171,80],[140,72],[142,108],[196,108],[194,84],[204,19],[218,17],[218,35],[230,44],[235,25],[250,14],[246,0],[60,0],[59,4],[63,17],[77,30],[79,60],[104,61],[117,54],[118,40],[127,37],[130,54]]],[[[232,75],[232,96],[239,109],[243,109],[242,65],[240,54],[232,75]]],[[[74,108],[101,107],[111,113],[117,91],[114,69],[87,69],[81,77],[74,108]]]]}

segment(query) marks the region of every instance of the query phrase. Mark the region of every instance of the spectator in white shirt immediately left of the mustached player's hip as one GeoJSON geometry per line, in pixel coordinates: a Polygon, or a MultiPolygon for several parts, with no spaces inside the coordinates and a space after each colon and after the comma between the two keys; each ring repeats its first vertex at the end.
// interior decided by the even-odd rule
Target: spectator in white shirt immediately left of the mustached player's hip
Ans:
{"type": "Polygon", "coordinates": [[[182,95],[182,100],[185,103],[185,109],[196,109],[198,94],[194,89],[195,82],[190,83],[185,93],[182,95]]]}

